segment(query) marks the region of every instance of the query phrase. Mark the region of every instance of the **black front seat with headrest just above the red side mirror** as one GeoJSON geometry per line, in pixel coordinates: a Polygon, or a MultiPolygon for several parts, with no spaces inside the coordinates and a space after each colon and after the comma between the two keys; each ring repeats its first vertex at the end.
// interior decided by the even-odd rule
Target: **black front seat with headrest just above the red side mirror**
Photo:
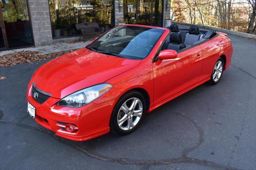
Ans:
{"type": "Polygon", "coordinates": [[[179,51],[183,48],[186,48],[186,45],[182,43],[182,38],[179,33],[172,33],[170,35],[170,44],[168,45],[167,49],[173,49],[175,51],[179,51]]]}

